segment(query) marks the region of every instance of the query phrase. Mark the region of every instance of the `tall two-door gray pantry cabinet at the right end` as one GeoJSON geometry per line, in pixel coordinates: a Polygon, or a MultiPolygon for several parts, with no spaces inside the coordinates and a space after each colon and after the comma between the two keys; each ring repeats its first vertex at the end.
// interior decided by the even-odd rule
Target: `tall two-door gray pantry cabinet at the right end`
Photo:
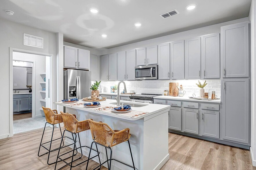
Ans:
{"type": "Polygon", "coordinates": [[[221,27],[222,138],[249,145],[249,26],[221,27]]]}

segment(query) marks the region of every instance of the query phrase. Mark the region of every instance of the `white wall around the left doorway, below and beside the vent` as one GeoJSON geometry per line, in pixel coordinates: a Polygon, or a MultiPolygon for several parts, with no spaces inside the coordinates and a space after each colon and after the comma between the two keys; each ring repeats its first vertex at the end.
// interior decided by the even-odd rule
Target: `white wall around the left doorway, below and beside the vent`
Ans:
{"type": "MultiPolygon", "coordinates": [[[[54,33],[44,31],[41,29],[36,29],[33,27],[28,27],[4,19],[0,19],[0,82],[1,88],[4,89],[1,95],[6,98],[0,102],[1,107],[1,123],[0,123],[0,139],[6,138],[10,135],[10,58],[9,58],[9,48],[19,48],[31,51],[38,51],[42,53],[51,53],[53,56],[53,65],[56,67],[56,36],[54,33]],[[44,38],[44,48],[35,48],[23,45],[23,33],[39,36],[44,38]]],[[[56,70],[56,69],[55,69],[56,70]]],[[[56,73],[54,74],[56,75],[56,73]]],[[[53,77],[56,80],[56,77],[53,77]]],[[[56,85],[56,83],[55,83],[56,85]]],[[[56,86],[55,86],[56,89],[56,86]]],[[[55,91],[53,93],[56,93],[55,91]]]]}

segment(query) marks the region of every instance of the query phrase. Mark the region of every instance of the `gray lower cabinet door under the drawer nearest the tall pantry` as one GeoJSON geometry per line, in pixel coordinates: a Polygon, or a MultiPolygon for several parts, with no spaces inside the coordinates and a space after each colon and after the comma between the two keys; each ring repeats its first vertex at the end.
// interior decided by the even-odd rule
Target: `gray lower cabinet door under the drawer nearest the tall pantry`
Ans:
{"type": "Polygon", "coordinates": [[[202,135],[219,138],[219,112],[202,111],[202,135]]]}

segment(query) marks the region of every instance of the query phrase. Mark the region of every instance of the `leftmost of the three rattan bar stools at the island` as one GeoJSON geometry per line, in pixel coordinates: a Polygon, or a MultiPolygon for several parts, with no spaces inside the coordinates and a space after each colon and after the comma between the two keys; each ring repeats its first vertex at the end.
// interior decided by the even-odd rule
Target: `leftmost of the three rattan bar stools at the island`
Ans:
{"type": "MultiPolygon", "coordinates": [[[[42,108],[43,108],[43,110],[44,110],[44,115],[45,115],[45,119],[46,119],[46,123],[45,123],[45,125],[44,125],[44,131],[45,131],[46,124],[48,123],[48,124],[50,124],[50,125],[53,125],[53,132],[54,132],[55,124],[59,124],[59,126],[60,126],[60,123],[63,122],[62,116],[61,116],[61,114],[58,114],[57,110],[51,110],[51,108],[45,108],[44,106],[42,106],[42,108]]],[[[51,164],[54,164],[55,162],[49,163],[50,153],[53,152],[53,151],[57,151],[57,150],[59,149],[59,147],[57,147],[57,148],[51,150],[52,142],[53,142],[53,141],[56,141],[56,140],[58,140],[58,139],[61,139],[61,138],[62,138],[62,132],[61,132],[61,128],[60,128],[61,137],[60,137],[60,138],[57,138],[57,139],[54,139],[54,140],[53,140],[53,132],[52,132],[51,141],[42,143],[43,137],[44,137],[44,131],[43,131],[43,134],[42,134],[42,138],[41,138],[41,142],[40,142],[40,145],[39,145],[39,149],[38,149],[38,154],[37,154],[37,155],[38,155],[38,156],[43,156],[43,155],[45,155],[45,154],[48,154],[47,164],[48,164],[48,165],[51,165],[51,164]],[[50,143],[49,149],[44,146],[44,144],[46,144],[46,143],[50,143]],[[44,153],[44,154],[39,155],[41,146],[42,146],[44,149],[46,149],[47,152],[44,153]]],[[[65,137],[66,137],[66,136],[65,136],[65,137]]],[[[66,137],[66,138],[69,138],[69,137],[66,137]]],[[[71,140],[74,140],[74,139],[72,139],[72,138],[70,138],[70,139],[71,139],[71,140]]],[[[70,144],[70,145],[73,145],[73,144],[70,144]]],[[[67,146],[70,146],[70,145],[64,146],[64,142],[62,142],[62,146],[61,146],[61,147],[63,148],[63,147],[67,147],[67,146]]],[[[76,154],[77,154],[77,151],[76,151],[76,154]]],[[[67,159],[67,158],[66,158],[66,159],[67,159]]]]}

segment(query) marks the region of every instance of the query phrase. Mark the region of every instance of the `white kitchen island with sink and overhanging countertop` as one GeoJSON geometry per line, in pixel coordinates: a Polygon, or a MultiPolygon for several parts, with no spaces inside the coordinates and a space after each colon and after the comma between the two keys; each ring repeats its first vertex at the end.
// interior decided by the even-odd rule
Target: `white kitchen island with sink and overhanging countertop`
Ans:
{"type": "MultiPolygon", "coordinates": [[[[168,112],[170,106],[158,104],[144,104],[130,101],[120,101],[131,105],[132,110],[138,111],[138,114],[133,116],[116,114],[106,110],[96,110],[97,108],[86,108],[83,103],[86,101],[80,100],[74,104],[66,104],[63,102],[54,102],[54,104],[66,107],[66,112],[75,114],[78,121],[93,119],[94,121],[102,121],[107,123],[112,129],[123,130],[130,129],[131,150],[134,158],[134,164],[138,170],[153,170],[160,169],[169,159],[168,153],[168,112]]],[[[116,100],[107,99],[100,101],[101,108],[105,106],[115,107],[116,100]]],[[[71,136],[71,134],[68,134],[71,136]]],[[[92,140],[90,130],[80,133],[81,145],[90,146],[92,140]]],[[[65,144],[72,143],[66,140],[65,144]]],[[[128,143],[121,143],[118,146],[112,147],[113,158],[132,165],[131,156],[129,153],[128,143]]],[[[99,148],[101,162],[107,160],[106,152],[103,147],[99,148]]],[[[89,149],[83,150],[83,155],[89,155],[89,149]]],[[[92,152],[92,156],[96,153],[92,152]]],[[[98,157],[93,159],[99,162],[98,157]]],[[[107,167],[107,163],[104,165],[107,167]]],[[[129,170],[131,168],[112,161],[111,169],[113,170],[129,170]]]]}

